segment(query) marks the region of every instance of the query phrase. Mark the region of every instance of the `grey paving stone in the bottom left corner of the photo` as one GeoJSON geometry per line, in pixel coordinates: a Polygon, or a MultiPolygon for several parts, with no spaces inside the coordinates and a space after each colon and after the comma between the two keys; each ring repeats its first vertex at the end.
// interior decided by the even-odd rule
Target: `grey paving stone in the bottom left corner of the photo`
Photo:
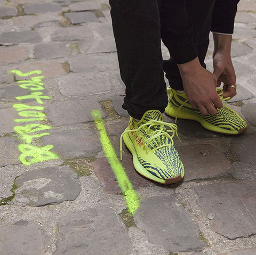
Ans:
{"type": "Polygon", "coordinates": [[[7,225],[0,228],[0,251],[4,255],[44,253],[43,236],[36,225],[7,225]],[[15,245],[13,241],[15,240],[15,245]]]}

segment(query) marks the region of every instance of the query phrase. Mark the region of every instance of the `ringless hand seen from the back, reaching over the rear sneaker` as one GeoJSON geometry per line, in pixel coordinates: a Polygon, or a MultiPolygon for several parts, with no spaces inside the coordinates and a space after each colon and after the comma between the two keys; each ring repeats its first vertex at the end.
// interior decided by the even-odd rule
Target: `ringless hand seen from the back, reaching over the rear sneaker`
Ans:
{"type": "Polygon", "coordinates": [[[198,57],[188,63],[178,64],[178,67],[191,106],[199,109],[203,115],[215,115],[216,108],[223,106],[216,92],[216,75],[204,69],[198,57]]]}

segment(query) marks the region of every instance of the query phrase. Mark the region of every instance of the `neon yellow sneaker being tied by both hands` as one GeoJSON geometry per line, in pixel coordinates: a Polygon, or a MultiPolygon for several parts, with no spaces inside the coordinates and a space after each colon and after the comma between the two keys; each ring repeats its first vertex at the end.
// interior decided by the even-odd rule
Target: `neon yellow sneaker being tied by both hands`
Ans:
{"type": "Polygon", "coordinates": [[[167,88],[169,102],[165,108],[165,113],[173,118],[188,119],[198,121],[204,128],[221,134],[238,135],[247,129],[246,122],[238,115],[236,111],[227,107],[230,97],[223,98],[223,91],[217,88],[216,91],[222,101],[226,101],[221,109],[218,109],[216,115],[203,116],[199,110],[193,109],[189,104],[185,93],[178,93],[171,87],[167,88]]]}

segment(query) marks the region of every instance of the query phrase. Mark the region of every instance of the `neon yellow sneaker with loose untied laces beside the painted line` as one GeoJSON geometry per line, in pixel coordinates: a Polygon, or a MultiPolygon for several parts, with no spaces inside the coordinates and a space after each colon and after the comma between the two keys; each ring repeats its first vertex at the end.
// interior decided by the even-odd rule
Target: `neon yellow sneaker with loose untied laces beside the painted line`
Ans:
{"type": "Polygon", "coordinates": [[[184,167],[173,146],[174,135],[179,138],[177,130],[177,125],[163,122],[158,110],[147,111],[139,122],[130,117],[129,126],[120,137],[121,160],[124,139],[139,174],[165,185],[179,182],[184,167]]]}

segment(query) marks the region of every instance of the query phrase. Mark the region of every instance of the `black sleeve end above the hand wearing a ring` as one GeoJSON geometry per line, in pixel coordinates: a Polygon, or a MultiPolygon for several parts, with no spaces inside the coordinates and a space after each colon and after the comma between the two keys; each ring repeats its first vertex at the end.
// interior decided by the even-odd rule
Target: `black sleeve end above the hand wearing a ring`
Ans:
{"type": "Polygon", "coordinates": [[[233,34],[239,0],[216,0],[212,15],[212,32],[233,34]]]}

